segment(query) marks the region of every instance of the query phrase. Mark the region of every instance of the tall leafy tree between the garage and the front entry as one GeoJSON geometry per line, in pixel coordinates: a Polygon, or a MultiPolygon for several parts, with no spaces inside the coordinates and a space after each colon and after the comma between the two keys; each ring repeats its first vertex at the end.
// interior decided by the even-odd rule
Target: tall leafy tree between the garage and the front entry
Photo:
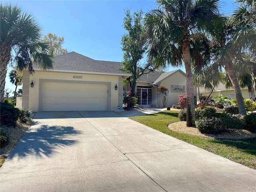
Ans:
{"type": "Polygon", "coordinates": [[[142,26],[142,10],[134,12],[131,16],[130,10],[125,10],[124,29],[128,33],[122,36],[121,44],[124,52],[122,66],[124,71],[132,74],[132,79],[128,78],[131,87],[131,97],[134,96],[136,80],[142,75],[154,69],[150,63],[140,64],[146,52],[145,30],[142,26]]]}

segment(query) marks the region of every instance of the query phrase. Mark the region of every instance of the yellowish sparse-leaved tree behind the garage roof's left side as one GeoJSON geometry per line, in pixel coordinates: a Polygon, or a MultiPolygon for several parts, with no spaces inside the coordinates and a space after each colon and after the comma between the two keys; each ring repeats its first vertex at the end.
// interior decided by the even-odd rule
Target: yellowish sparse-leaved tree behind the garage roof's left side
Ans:
{"type": "Polygon", "coordinates": [[[58,37],[56,34],[48,33],[44,36],[43,41],[50,45],[51,56],[57,56],[68,52],[67,49],[62,48],[64,37],[58,37]]]}

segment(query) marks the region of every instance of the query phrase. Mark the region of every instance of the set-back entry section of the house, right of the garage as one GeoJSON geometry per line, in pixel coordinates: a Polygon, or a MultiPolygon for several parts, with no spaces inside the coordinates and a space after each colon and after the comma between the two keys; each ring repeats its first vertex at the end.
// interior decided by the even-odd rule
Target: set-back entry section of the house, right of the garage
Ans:
{"type": "MultiPolygon", "coordinates": [[[[121,62],[99,61],[116,69],[121,69],[121,62]]],[[[138,104],[145,107],[163,107],[161,94],[158,93],[158,86],[162,84],[169,90],[168,102],[166,106],[178,103],[178,95],[186,93],[186,74],[182,70],[174,70],[166,73],[158,71],[143,74],[137,79],[136,94],[138,96],[138,104]]],[[[130,90],[130,86],[123,88],[123,94],[130,90]]]]}

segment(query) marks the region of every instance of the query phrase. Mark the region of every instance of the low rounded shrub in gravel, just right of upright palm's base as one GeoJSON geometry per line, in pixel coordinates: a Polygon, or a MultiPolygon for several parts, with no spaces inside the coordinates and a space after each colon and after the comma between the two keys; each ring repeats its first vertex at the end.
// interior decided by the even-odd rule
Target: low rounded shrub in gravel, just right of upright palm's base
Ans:
{"type": "Polygon", "coordinates": [[[222,130],[222,120],[218,117],[204,117],[196,121],[196,127],[201,133],[220,134],[222,130]]]}

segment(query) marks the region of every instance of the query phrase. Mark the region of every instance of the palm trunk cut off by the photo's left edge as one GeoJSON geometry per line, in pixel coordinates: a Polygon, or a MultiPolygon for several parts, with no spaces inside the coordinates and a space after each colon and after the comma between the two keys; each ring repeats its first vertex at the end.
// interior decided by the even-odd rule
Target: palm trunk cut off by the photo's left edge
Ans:
{"type": "Polygon", "coordinates": [[[11,58],[11,47],[7,46],[6,43],[1,42],[1,48],[0,48],[0,73],[1,73],[1,85],[0,85],[0,91],[1,91],[1,98],[0,102],[4,102],[4,88],[5,88],[5,78],[7,73],[7,66],[11,58]]]}

